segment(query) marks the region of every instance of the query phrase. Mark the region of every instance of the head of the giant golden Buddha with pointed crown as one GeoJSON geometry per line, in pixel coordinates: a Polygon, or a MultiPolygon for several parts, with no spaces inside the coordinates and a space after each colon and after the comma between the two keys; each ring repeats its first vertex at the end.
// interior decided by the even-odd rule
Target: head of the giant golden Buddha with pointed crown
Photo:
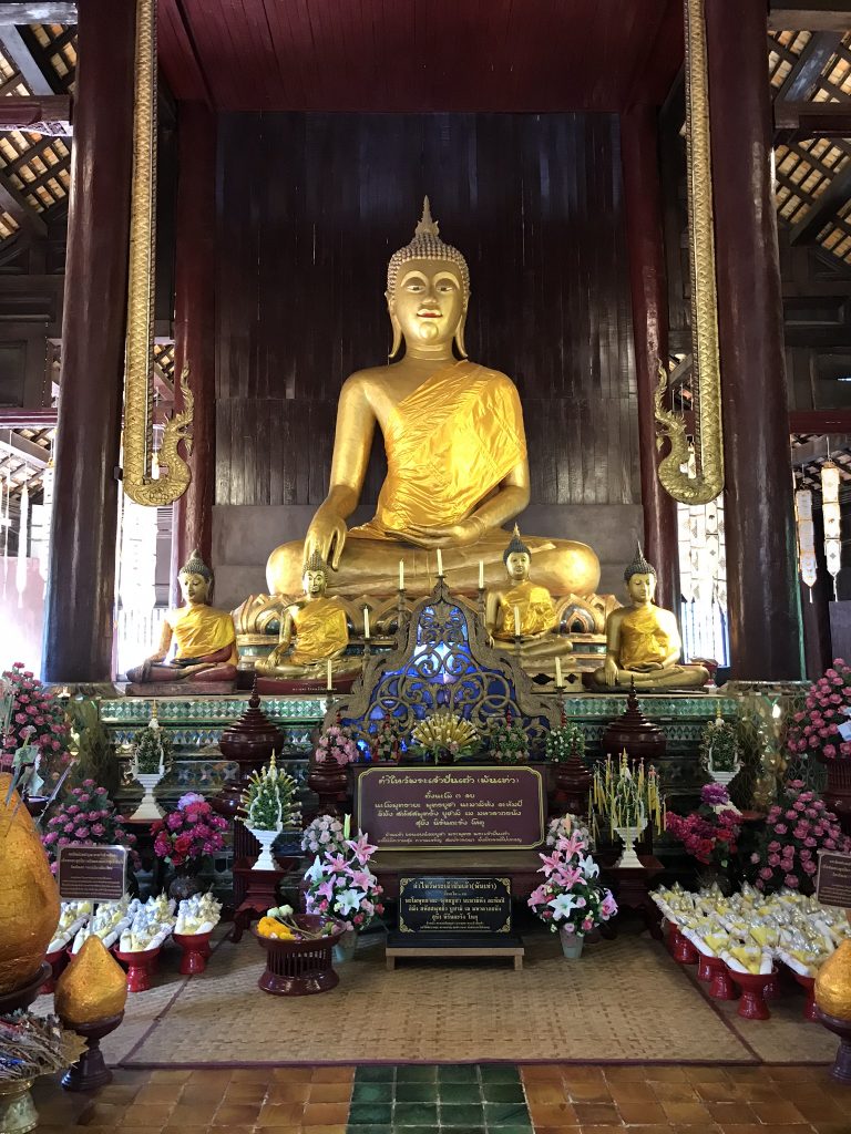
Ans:
{"type": "Polygon", "coordinates": [[[440,239],[428,197],[413,240],[390,256],[385,297],[393,323],[391,358],[403,339],[408,349],[420,347],[435,354],[440,348],[452,353],[454,341],[461,357],[466,358],[470,270],[458,249],[440,239]]]}

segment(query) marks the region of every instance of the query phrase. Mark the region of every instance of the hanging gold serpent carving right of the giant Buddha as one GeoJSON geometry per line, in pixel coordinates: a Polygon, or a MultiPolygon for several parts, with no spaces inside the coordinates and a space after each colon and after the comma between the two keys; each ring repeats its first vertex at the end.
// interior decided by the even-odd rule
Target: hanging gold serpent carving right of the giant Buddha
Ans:
{"type": "Polygon", "coordinates": [[[694,396],[697,476],[682,466],[689,460],[685,422],[667,409],[668,374],[659,363],[656,388],[657,448],[665,438],[671,450],[658,466],[665,491],[680,503],[715,500],[724,489],[724,434],[721,414],[718,305],[713,230],[713,167],[709,141],[709,84],[706,67],[703,0],[684,0],[685,19],[685,162],[689,189],[689,265],[691,274],[691,349],[694,396]]]}

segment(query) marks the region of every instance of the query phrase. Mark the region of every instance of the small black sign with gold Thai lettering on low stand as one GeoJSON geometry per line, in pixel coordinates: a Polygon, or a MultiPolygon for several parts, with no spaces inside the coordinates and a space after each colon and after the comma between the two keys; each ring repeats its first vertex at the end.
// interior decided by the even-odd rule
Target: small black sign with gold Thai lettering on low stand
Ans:
{"type": "Polygon", "coordinates": [[[511,933],[509,878],[418,874],[399,879],[399,932],[511,933]]]}

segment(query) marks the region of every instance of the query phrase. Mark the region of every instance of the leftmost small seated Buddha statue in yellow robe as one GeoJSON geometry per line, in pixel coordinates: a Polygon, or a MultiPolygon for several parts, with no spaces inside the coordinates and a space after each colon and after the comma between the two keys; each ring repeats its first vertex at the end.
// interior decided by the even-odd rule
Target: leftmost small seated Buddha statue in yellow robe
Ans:
{"type": "Polygon", "coordinates": [[[127,670],[136,684],[151,682],[233,682],[236,678],[236,629],[227,610],[210,606],[213,575],[199,551],[193,551],[178,575],[183,607],[170,610],[162,624],[157,653],[127,670]],[[171,645],[177,650],[171,661],[171,645]]]}

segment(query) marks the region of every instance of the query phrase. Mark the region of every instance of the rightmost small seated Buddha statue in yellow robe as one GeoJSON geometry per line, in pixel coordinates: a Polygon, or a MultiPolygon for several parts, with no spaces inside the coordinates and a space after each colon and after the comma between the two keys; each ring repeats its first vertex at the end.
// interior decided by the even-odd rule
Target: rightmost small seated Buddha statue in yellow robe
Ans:
{"type": "Polygon", "coordinates": [[[639,547],[624,572],[631,604],[606,619],[606,660],[591,676],[601,689],[694,688],[706,685],[709,671],[680,661],[682,642],[676,617],[654,604],[656,568],[639,547]]]}

